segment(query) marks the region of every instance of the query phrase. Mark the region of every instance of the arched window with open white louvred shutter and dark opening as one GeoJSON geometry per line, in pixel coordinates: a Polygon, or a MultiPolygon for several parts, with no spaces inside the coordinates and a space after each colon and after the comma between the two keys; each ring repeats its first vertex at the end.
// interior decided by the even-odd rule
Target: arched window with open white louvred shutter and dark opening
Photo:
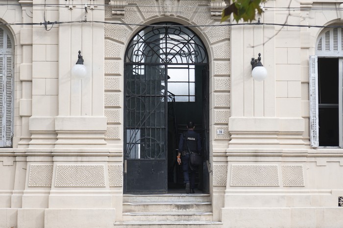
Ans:
{"type": "Polygon", "coordinates": [[[310,56],[312,147],[343,147],[343,28],[324,29],[310,56]]]}

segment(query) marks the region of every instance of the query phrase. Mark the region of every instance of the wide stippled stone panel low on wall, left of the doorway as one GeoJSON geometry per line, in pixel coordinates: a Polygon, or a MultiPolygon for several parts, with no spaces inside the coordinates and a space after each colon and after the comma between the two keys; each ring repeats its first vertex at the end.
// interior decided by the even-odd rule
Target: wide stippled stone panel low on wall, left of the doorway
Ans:
{"type": "Polygon", "coordinates": [[[104,187],[103,165],[57,165],[55,187],[104,187]]]}

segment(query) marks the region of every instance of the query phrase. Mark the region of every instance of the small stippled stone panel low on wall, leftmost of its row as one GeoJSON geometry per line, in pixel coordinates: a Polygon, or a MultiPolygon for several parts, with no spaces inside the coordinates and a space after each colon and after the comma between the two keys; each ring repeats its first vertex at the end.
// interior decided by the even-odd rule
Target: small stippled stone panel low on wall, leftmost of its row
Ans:
{"type": "Polygon", "coordinates": [[[28,175],[29,187],[50,187],[53,165],[30,165],[28,175]]]}

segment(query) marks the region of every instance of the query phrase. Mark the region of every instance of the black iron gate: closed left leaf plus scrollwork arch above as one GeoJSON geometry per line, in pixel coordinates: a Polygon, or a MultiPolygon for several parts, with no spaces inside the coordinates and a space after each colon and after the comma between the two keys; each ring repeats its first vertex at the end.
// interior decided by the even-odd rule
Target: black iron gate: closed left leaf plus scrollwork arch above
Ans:
{"type": "Polygon", "coordinates": [[[200,39],[188,28],[147,26],[125,53],[124,192],[167,192],[168,66],[207,63],[200,39]]]}

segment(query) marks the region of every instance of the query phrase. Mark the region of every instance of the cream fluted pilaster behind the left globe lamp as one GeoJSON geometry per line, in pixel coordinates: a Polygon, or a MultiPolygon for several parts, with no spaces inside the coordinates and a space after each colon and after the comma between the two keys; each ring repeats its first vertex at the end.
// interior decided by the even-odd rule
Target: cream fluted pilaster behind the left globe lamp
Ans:
{"type": "MultiPolygon", "coordinates": [[[[60,4],[64,4],[60,0],[60,4]]],[[[85,4],[87,0],[74,0],[85,4]]],[[[106,117],[104,116],[104,27],[86,23],[86,20],[103,21],[103,6],[90,6],[87,11],[71,7],[59,9],[64,21],[85,21],[63,24],[59,28],[59,87],[58,116],[55,119],[57,141],[55,148],[104,148],[106,143],[106,117]],[[96,10],[94,10],[96,7],[96,10]],[[66,39],[68,37],[68,39],[66,39]],[[87,69],[84,78],[73,78],[71,69],[77,61],[78,51],[87,69]]],[[[94,151],[94,150],[93,150],[94,151]]]]}

